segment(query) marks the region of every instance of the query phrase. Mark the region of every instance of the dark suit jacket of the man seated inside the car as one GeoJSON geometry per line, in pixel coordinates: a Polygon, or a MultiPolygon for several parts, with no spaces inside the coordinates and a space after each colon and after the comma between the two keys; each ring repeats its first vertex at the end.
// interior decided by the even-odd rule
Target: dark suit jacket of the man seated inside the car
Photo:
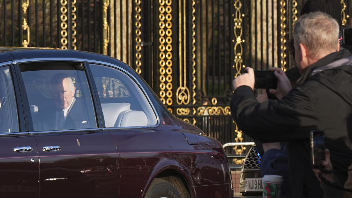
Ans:
{"type": "MultiPolygon", "coordinates": [[[[56,128],[56,109],[55,105],[52,105],[51,108],[43,108],[43,110],[39,109],[38,112],[38,127],[34,128],[34,130],[40,131],[50,131],[50,130],[58,130],[56,128]]],[[[74,102],[71,110],[66,116],[66,120],[63,126],[63,130],[65,129],[86,129],[89,128],[88,118],[86,115],[86,111],[84,111],[84,106],[82,104],[82,100],[77,98],[74,102]]]]}

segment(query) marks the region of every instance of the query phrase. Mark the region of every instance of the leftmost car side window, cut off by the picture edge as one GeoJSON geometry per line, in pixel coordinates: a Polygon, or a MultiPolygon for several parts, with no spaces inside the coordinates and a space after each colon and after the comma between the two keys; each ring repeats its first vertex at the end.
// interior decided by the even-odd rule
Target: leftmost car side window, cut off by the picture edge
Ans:
{"type": "Polygon", "coordinates": [[[8,66],[0,68],[0,133],[18,132],[17,104],[8,66]]]}

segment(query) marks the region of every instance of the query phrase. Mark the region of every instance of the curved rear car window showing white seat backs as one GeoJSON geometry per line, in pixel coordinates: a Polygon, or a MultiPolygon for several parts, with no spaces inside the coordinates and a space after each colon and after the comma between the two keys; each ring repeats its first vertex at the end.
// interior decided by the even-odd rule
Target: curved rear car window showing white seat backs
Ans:
{"type": "Polygon", "coordinates": [[[105,127],[152,126],[157,123],[145,93],[117,68],[90,64],[101,103],[105,127]]]}

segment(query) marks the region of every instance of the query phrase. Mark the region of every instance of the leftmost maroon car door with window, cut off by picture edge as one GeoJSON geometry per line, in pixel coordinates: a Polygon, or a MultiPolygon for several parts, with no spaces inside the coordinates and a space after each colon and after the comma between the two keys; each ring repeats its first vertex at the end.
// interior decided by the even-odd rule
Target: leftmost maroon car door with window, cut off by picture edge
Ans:
{"type": "Polygon", "coordinates": [[[0,197],[38,197],[38,151],[20,130],[18,109],[10,66],[0,67],[0,197]]]}

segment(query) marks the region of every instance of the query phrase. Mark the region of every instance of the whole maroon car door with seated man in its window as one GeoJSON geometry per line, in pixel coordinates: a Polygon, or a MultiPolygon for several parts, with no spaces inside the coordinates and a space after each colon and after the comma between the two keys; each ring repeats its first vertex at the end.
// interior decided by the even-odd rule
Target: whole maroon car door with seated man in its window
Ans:
{"type": "Polygon", "coordinates": [[[40,158],[40,197],[118,197],[119,154],[98,128],[83,63],[41,61],[19,69],[40,158]]]}

